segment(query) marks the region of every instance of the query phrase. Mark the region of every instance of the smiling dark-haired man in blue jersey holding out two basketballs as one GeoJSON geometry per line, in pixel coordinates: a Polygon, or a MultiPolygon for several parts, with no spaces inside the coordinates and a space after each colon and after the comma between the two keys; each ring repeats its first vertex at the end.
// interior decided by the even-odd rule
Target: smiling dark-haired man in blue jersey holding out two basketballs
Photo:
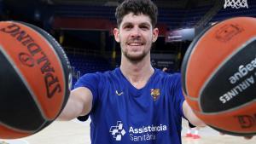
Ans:
{"type": "Polygon", "coordinates": [[[180,74],[151,66],[157,14],[150,0],[121,3],[113,30],[122,52],[120,67],[85,74],[75,84],[59,119],[90,115],[91,143],[180,144],[182,118],[205,126],[184,100],[180,74]]]}

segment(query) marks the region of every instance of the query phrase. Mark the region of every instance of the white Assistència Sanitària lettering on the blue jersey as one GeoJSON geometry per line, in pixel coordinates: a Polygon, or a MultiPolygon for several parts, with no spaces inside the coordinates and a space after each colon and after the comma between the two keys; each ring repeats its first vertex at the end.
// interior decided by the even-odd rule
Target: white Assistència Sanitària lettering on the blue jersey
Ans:
{"type": "Polygon", "coordinates": [[[160,124],[159,126],[143,126],[142,128],[138,129],[130,127],[129,133],[131,141],[154,141],[157,133],[166,130],[167,126],[160,124]]]}

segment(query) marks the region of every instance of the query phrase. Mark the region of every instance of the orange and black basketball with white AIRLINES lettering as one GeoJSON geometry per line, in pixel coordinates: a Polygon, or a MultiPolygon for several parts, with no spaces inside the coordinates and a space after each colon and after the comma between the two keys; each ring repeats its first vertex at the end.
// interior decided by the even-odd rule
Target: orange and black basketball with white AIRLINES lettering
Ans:
{"type": "Polygon", "coordinates": [[[256,19],[236,17],[201,32],[182,65],[195,114],[230,135],[256,134],[256,19]]]}

